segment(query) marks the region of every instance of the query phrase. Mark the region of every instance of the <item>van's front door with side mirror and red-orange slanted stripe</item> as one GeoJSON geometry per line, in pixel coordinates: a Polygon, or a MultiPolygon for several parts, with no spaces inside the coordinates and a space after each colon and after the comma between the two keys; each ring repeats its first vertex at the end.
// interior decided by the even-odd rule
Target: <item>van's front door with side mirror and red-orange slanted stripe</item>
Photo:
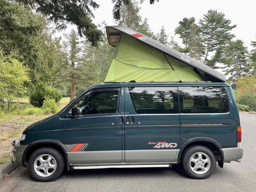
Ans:
{"type": "Polygon", "coordinates": [[[72,118],[71,108],[67,110],[63,143],[72,164],[122,162],[119,95],[120,88],[93,89],[74,104],[80,108],[80,115],[72,118]]]}

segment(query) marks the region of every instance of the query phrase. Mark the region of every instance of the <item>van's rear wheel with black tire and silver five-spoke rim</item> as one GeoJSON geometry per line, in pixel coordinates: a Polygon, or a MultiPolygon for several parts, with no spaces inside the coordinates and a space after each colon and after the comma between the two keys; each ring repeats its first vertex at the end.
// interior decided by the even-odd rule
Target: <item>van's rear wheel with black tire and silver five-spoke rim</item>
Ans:
{"type": "Polygon", "coordinates": [[[215,170],[216,159],[209,148],[194,145],[183,151],[181,167],[190,178],[205,179],[215,170]]]}

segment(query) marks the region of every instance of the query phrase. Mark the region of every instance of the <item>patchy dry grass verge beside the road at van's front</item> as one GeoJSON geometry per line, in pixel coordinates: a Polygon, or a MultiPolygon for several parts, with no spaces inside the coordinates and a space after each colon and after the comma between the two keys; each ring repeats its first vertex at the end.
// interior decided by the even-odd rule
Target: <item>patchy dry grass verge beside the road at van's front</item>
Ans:
{"type": "MultiPolygon", "coordinates": [[[[64,108],[69,100],[70,97],[63,97],[58,103],[58,111],[64,108]]],[[[42,108],[33,107],[28,97],[21,98],[18,103],[14,101],[7,114],[0,110],[0,165],[10,160],[11,140],[17,140],[28,125],[50,115],[52,114],[45,115],[42,108]]]]}

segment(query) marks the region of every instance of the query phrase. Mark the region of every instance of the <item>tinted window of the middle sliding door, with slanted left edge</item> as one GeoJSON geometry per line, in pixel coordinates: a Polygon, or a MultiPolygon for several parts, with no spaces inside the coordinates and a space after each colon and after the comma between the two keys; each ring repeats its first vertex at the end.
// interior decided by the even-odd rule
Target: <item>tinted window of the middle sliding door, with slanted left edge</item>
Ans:
{"type": "Polygon", "coordinates": [[[138,114],[179,113],[177,87],[129,87],[138,114]]]}

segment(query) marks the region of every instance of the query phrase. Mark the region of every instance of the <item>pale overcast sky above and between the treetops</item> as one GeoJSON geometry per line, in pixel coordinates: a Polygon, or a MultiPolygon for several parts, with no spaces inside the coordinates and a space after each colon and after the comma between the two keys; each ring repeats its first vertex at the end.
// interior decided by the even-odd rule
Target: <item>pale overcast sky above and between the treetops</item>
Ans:
{"type": "MultiPolygon", "coordinates": [[[[100,8],[93,11],[95,16],[93,22],[98,24],[105,20],[108,25],[115,25],[111,0],[95,1],[100,4],[100,8]]],[[[166,33],[174,36],[174,29],[184,17],[195,17],[197,23],[209,9],[217,9],[225,13],[226,18],[232,21],[232,25],[236,24],[237,27],[232,33],[236,35],[236,39],[242,39],[249,50],[252,48],[251,41],[256,41],[256,1],[254,0],[159,0],[153,5],[149,4],[149,0],[144,0],[144,3],[139,5],[140,15],[148,19],[149,27],[155,33],[164,25],[166,33]]],[[[178,35],[175,35],[174,39],[182,44],[178,35]]]]}

